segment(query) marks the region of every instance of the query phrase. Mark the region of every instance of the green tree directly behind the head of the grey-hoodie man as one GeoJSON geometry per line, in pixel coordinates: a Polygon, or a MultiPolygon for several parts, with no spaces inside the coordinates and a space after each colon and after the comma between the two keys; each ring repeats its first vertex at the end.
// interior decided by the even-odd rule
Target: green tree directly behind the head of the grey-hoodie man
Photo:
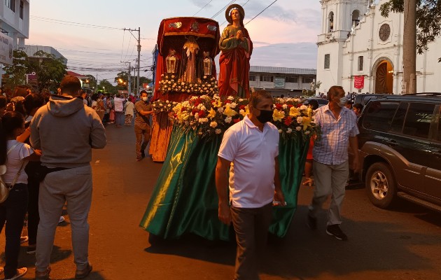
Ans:
{"type": "Polygon", "coordinates": [[[29,71],[34,71],[37,76],[37,90],[43,88],[56,91],[59,83],[66,75],[66,65],[62,58],[38,50],[34,57],[29,57],[29,71]]]}

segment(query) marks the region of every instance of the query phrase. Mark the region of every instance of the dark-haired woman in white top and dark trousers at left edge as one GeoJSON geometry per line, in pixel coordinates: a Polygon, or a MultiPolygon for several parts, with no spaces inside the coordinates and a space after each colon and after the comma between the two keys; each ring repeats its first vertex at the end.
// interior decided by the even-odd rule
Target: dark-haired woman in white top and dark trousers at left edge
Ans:
{"type": "Polygon", "coordinates": [[[25,131],[25,118],[19,112],[6,112],[0,125],[0,165],[6,165],[2,179],[7,186],[13,186],[8,198],[0,204],[0,232],[6,224],[6,246],[4,275],[6,280],[19,279],[27,272],[18,268],[20,235],[27,211],[27,174],[23,171],[28,160],[39,160],[29,145],[16,138],[25,131]]]}

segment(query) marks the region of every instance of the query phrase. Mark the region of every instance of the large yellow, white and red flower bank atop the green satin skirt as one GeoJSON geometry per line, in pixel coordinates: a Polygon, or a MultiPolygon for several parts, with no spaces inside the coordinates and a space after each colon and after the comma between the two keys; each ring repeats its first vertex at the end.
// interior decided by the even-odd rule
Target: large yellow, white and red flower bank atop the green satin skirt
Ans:
{"type": "MultiPolygon", "coordinates": [[[[194,130],[200,137],[214,137],[223,134],[228,127],[243,120],[249,113],[248,99],[227,97],[217,94],[193,96],[176,104],[172,117],[177,125],[186,130],[194,130]]],[[[279,129],[283,139],[307,139],[319,134],[314,123],[314,112],[300,103],[300,99],[274,99],[272,123],[279,129]]]]}

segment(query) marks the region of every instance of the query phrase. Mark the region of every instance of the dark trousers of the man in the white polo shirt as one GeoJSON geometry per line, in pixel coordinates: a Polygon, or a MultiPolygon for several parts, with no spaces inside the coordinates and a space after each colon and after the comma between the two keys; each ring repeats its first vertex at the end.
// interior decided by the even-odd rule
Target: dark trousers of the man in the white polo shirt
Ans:
{"type": "Polygon", "coordinates": [[[258,256],[267,244],[272,203],[260,208],[231,207],[231,214],[237,242],[235,279],[259,279],[258,256]]]}

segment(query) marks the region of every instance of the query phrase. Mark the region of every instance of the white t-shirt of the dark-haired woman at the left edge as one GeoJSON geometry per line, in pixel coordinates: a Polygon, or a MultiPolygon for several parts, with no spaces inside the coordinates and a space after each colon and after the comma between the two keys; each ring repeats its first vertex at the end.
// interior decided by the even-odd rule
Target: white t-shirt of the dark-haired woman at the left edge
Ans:
{"type": "MultiPolygon", "coordinates": [[[[18,170],[23,163],[23,158],[29,157],[29,155],[34,153],[34,149],[31,148],[28,144],[20,143],[17,140],[8,140],[8,144],[6,145],[7,151],[12,148],[15,144],[17,144],[12,151],[10,151],[8,155],[8,161],[6,162],[6,174],[1,176],[5,183],[12,183],[17,176],[18,170]]],[[[18,176],[18,180],[15,183],[27,183],[27,174],[25,172],[25,165],[23,165],[22,171],[20,172],[20,176],[18,176]]]]}

